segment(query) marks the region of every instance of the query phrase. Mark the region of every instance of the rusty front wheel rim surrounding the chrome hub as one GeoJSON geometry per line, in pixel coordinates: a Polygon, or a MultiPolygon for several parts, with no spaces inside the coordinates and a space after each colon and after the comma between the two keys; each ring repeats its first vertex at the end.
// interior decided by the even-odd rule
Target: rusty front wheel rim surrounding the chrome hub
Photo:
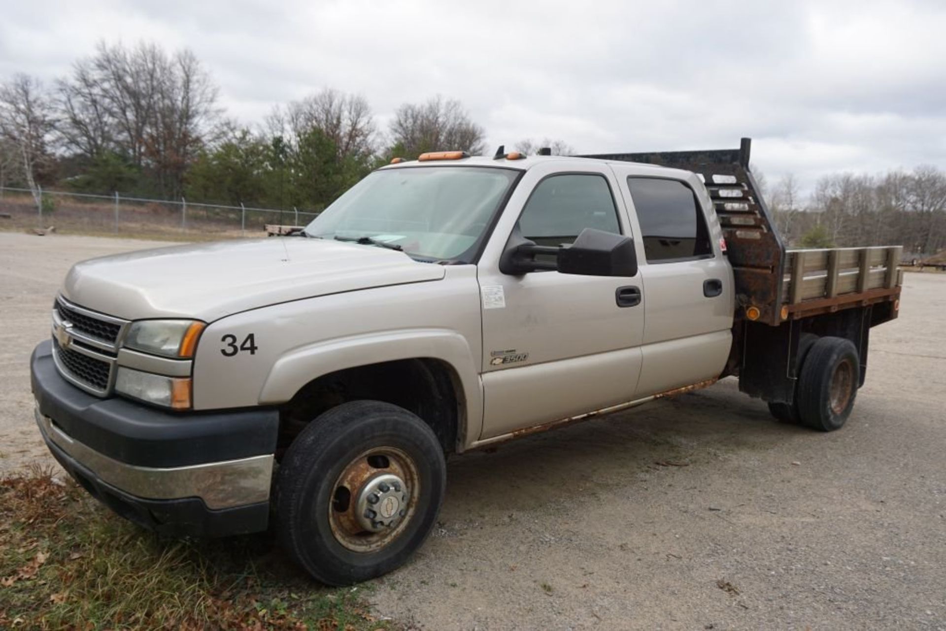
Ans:
{"type": "Polygon", "coordinates": [[[328,525],[335,540],[353,552],[377,552],[391,544],[411,523],[416,513],[420,476],[412,458],[396,447],[374,447],[359,454],[342,468],[332,486],[328,503],[328,525]],[[386,462],[385,462],[386,461],[386,462]],[[378,478],[396,476],[403,481],[407,500],[399,510],[403,516],[390,528],[378,532],[366,530],[359,519],[359,497],[378,478]],[[347,490],[347,502],[345,492],[347,490]]]}

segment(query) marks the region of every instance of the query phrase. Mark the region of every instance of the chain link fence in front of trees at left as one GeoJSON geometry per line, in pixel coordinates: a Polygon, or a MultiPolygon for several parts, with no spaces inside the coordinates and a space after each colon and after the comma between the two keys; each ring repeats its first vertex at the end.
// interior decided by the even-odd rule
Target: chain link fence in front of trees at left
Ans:
{"type": "Polygon", "coordinates": [[[266,224],[304,226],[318,213],[216,203],[149,200],[0,186],[0,230],[166,239],[263,237],[266,224]]]}

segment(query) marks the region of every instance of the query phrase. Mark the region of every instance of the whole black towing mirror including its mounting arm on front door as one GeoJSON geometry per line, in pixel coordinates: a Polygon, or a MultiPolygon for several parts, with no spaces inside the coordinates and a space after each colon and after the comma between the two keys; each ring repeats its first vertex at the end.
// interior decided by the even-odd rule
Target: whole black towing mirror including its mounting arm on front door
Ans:
{"type": "Polygon", "coordinates": [[[535,245],[522,237],[518,226],[499,257],[499,272],[518,276],[528,272],[557,270],[584,276],[635,276],[638,255],[634,239],[586,228],[569,246],[535,245]],[[555,261],[535,260],[537,254],[553,254],[555,261]]]}

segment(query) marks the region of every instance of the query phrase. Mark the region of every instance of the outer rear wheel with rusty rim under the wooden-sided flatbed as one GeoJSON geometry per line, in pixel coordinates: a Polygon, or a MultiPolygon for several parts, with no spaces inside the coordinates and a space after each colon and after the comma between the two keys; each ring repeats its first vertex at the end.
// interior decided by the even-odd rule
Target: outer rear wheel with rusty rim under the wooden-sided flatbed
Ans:
{"type": "Polygon", "coordinates": [[[844,338],[820,338],[812,344],[798,378],[801,422],[821,431],[841,429],[854,408],[860,384],[857,348],[844,338]]]}

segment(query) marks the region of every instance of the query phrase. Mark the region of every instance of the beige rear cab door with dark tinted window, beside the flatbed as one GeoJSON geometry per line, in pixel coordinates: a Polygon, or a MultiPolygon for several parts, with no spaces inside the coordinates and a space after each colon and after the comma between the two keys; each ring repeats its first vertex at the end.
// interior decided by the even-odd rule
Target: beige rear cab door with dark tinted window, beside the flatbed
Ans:
{"type": "Polygon", "coordinates": [[[732,268],[709,194],[690,177],[622,177],[646,296],[635,398],[718,377],[732,343],[732,268]]]}

